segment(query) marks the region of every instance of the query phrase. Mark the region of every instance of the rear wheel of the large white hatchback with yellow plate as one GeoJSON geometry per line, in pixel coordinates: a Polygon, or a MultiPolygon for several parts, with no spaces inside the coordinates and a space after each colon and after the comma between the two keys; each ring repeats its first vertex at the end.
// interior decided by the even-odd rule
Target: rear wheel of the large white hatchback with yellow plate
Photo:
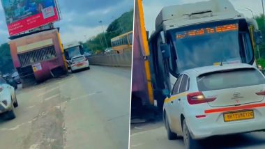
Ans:
{"type": "Polygon", "coordinates": [[[190,136],[190,131],[188,130],[188,126],[185,120],[183,120],[183,141],[184,141],[185,149],[200,148],[198,141],[192,139],[192,137],[190,136]]]}

